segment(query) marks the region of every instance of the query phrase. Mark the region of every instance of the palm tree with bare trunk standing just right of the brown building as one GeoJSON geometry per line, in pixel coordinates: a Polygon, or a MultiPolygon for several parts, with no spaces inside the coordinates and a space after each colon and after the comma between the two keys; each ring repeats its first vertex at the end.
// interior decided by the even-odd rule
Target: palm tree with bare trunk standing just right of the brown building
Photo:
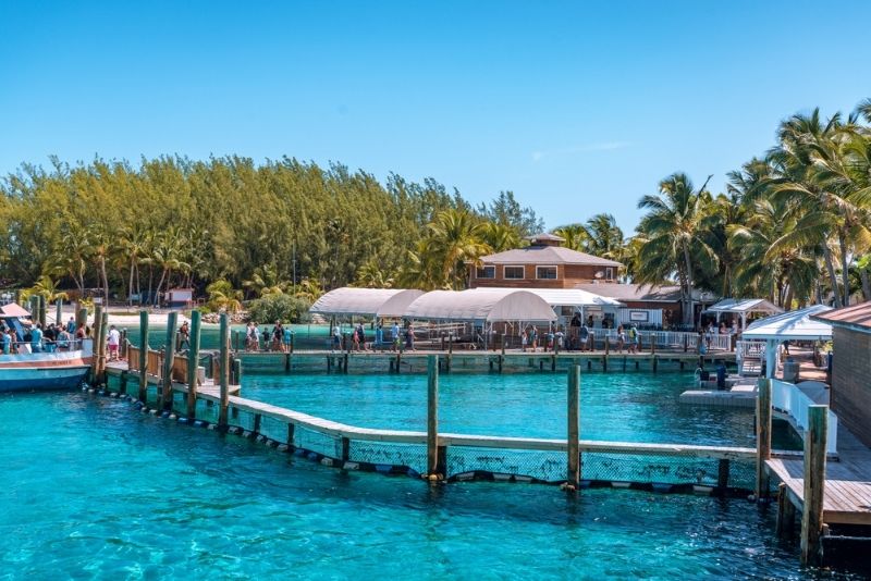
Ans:
{"type": "Polygon", "coordinates": [[[647,242],[639,252],[639,282],[659,284],[677,272],[684,296],[684,322],[695,320],[694,258],[703,267],[715,268],[717,257],[703,237],[709,220],[706,205],[711,196],[704,189],[694,189],[692,182],[684,173],[675,173],[660,182],[655,196],[645,196],[638,208],[648,210],[641,219],[638,232],[647,242]]]}

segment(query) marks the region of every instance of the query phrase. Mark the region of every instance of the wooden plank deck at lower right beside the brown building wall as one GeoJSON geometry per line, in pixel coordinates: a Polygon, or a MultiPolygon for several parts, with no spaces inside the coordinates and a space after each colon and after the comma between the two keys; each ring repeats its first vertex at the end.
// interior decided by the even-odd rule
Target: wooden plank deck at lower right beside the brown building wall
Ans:
{"type": "MultiPolygon", "coordinates": [[[[826,524],[871,526],[871,449],[846,428],[838,427],[837,460],[825,465],[823,522],[826,524]]],[[[769,474],[786,484],[786,491],[800,512],[805,498],[805,465],[799,459],[771,459],[769,474]]]]}

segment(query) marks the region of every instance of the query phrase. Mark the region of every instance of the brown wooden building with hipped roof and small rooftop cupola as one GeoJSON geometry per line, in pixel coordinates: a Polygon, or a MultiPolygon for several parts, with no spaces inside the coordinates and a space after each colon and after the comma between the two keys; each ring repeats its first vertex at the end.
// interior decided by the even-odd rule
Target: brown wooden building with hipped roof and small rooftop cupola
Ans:
{"type": "Polygon", "coordinates": [[[553,234],[529,237],[530,245],[481,257],[469,264],[469,287],[575,288],[579,284],[614,283],[619,262],[565,248],[553,234]]]}

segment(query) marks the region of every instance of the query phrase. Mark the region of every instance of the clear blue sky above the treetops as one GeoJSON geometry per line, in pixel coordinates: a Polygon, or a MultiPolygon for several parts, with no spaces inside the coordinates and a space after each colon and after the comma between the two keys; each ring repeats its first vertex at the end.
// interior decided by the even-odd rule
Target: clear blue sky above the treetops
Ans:
{"type": "Polygon", "coordinates": [[[871,97],[867,1],[0,0],[0,175],[179,153],[340,162],[514,191],[629,234],[777,124],[871,97]]]}

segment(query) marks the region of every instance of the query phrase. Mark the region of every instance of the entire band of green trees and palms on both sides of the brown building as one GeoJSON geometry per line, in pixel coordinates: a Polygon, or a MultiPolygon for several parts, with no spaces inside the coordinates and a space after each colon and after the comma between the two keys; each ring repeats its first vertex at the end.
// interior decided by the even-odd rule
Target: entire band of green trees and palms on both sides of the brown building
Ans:
{"type": "MultiPolygon", "coordinates": [[[[786,308],[871,299],[869,122],[871,100],[846,119],[796,114],[722,194],[674,173],[641,197],[630,238],[610,214],[554,232],[623,262],[625,280],[679,284],[687,307],[700,290],[786,308]]],[[[258,297],[263,309],[297,308],[291,297],[310,304],[347,284],[462,288],[469,263],[543,227],[510,191],[474,208],[431,180],[382,184],[287,158],[24,165],[0,183],[0,286],[149,300],[194,286],[231,311],[258,297]]],[[[292,319],[257,317],[274,318],[292,319]]]]}

